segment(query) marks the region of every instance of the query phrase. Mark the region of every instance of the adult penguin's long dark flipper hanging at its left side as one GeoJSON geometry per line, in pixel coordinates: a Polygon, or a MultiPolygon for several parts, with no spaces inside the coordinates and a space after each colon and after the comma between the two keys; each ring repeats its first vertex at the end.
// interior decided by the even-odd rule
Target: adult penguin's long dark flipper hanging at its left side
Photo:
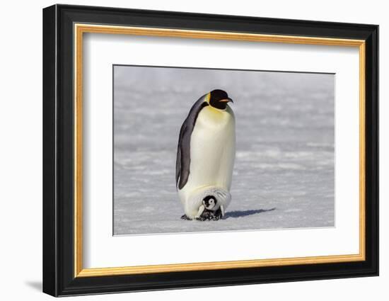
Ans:
{"type": "Polygon", "coordinates": [[[190,174],[190,136],[194,124],[202,108],[209,106],[206,101],[207,94],[194,103],[180,129],[178,137],[177,159],[175,161],[175,184],[182,189],[187,183],[190,174]]]}

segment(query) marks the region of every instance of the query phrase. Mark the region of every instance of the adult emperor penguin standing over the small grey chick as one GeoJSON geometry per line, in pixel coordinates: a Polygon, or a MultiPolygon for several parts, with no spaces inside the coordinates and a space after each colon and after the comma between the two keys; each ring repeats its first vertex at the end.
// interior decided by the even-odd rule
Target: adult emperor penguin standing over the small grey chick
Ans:
{"type": "Polygon", "coordinates": [[[194,103],[178,138],[175,183],[189,220],[200,217],[207,196],[216,198],[222,215],[231,201],[235,161],[235,116],[226,91],[216,89],[194,103]]]}

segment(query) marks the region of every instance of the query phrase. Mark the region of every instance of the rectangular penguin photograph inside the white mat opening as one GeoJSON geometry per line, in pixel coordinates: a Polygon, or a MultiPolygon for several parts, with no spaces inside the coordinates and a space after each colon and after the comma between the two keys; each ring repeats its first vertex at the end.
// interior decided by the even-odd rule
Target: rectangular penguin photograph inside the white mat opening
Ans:
{"type": "Polygon", "coordinates": [[[114,235],[335,227],[335,74],[112,73],[114,235]]]}

